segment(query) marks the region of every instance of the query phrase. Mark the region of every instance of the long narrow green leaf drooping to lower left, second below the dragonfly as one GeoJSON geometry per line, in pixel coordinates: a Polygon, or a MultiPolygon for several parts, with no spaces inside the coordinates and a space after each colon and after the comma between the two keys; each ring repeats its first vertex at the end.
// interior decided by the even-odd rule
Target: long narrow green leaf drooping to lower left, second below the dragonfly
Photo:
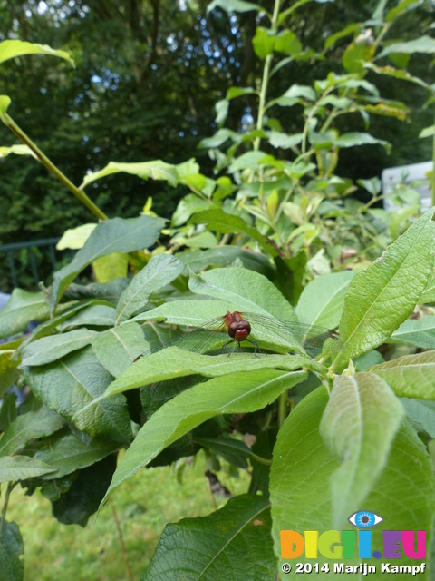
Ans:
{"type": "Polygon", "coordinates": [[[285,389],[306,377],[303,371],[239,371],[183,391],[162,406],[140,429],[113,475],[104,500],[114,488],[156,458],[161,450],[199,424],[221,414],[263,409],[285,389]]]}

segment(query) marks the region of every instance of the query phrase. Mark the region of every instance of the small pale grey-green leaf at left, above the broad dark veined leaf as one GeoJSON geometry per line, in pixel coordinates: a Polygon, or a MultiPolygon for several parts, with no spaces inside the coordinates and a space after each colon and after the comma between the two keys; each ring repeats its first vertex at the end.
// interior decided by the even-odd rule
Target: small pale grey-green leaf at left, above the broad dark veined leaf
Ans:
{"type": "Polygon", "coordinates": [[[89,345],[94,335],[94,330],[79,329],[36,340],[24,347],[21,367],[45,365],[61,359],[64,355],[89,345]]]}

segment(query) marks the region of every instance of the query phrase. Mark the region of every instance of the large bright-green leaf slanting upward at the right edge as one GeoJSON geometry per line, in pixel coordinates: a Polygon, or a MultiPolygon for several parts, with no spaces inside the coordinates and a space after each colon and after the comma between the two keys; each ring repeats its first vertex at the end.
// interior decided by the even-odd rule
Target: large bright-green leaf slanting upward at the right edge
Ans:
{"type": "Polygon", "coordinates": [[[433,265],[435,224],[426,212],[365,271],[344,300],[340,332],[347,340],[334,366],[382,345],[408,319],[426,288],[433,265]]]}

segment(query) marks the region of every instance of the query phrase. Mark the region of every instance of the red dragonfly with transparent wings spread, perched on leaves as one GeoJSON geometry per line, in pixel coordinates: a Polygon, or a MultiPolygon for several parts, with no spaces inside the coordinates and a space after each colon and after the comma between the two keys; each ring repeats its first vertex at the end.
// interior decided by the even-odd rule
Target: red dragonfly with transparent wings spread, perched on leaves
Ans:
{"type": "Polygon", "coordinates": [[[256,340],[266,345],[266,349],[284,352],[293,350],[310,357],[322,353],[324,346],[325,351],[335,353],[341,349],[344,342],[342,336],[335,330],[295,321],[278,320],[258,313],[228,310],[223,317],[208,320],[178,339],[145,351],[134,361],[172,346],[202,354],[213,350],[219,350],[219,353],[222,353],[226,350],[229,355],[228,346],[237,344],[239,350],[242,351],[240,346],[242,341],[248,341],[254,346],[256,356],[256,353],[261,353],[261,350],[256,340],[248,339],[251,332],[256,340]],[[225,338],[229,340],[222,343],[225,338]]]}

